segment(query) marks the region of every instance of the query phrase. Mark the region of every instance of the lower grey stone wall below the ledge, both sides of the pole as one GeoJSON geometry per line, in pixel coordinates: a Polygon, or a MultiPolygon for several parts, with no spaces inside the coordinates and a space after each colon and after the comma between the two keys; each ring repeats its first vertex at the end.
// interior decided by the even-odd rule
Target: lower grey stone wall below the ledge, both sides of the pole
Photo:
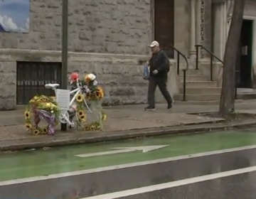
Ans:
{"type": "MultiPolygon", "coordinates": [[[[105,105],[146,102],[147,81],[143,80],[143,55],[70,53],[68,73],[95,72],[105,90],[105,105]]],[[[0,50],[0,109],[16,108],[16,61],[61,62],[60,52],[38,50],[0,50]]]]}

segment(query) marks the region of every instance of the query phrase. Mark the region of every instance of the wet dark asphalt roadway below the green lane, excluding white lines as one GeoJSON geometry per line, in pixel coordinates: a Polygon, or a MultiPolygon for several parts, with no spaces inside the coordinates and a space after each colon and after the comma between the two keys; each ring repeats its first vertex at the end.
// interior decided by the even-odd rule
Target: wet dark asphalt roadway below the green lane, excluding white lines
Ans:
{"type": "MultiPolygon", "coordinates": [[[[213,173],[233,171],[238,168],[247,168],[255,166],[255,157],[256,149],[248,149],[198,158],[186,158],[178,161],[149,163],[144,166],[132,166],[110,171],[52,178],[43,181],[16,182],[10,185],[1,185],[0,198],[90,198],[95,195],[181,181],[213,173]]],[[[247,194],[255,193],[255,174],[256,172],[245,173],[238,176],[192,183],[191,185],[157,190],[124,198],[228,199],[226,198],[227,193],[233,193],[232,197],[230,196],[232,199],[240,199],[240,192],[247,190],[247,194]],[[230,190],[233,191],[230,192],[230,190]]],[[[250,194],[248,197],[251,197],[250,194]]],[[[243,198],[247,199],[246,197],[243,198]]]]}

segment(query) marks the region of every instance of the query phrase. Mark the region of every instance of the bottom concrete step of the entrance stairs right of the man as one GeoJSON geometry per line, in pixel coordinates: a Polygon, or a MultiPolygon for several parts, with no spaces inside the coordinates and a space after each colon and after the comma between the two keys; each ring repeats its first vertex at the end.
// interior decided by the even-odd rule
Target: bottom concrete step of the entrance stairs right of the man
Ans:
{"type": "MultiPolygon", "coordinates": [[[[178,94],[174,95],[174,101],[181,101],[183,100],[183,95],[178,94]]],[[[215,101],[220,100],[220,94],[205,94],[205,95],[186,95],[187,101],[215,101]]]]}

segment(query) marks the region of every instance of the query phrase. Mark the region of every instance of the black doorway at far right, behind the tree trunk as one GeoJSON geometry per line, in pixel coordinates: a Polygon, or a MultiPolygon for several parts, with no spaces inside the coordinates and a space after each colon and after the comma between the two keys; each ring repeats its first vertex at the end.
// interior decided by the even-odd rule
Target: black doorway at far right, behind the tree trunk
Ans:
{"type": "Polygon", "coordinates": [[[244,20],[238,46],[238,87],[252,88],[252,20],[244,20]]]}

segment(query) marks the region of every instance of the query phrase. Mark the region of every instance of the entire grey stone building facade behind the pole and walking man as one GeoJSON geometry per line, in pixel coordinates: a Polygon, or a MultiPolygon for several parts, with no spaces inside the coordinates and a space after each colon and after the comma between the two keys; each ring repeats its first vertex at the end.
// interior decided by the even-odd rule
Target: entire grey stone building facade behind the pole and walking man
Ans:
{"type": "MultiPolygon", "coordinates": [[[[194,45],[202,44],[222,58],[229,2],[69,1],[68,70],[96,72],[105,87],[106,104],[144,103],[147,82],[142,79],[142,62],[149,58],[149,43],[157,39],[174,45],[191,60],[194,45]]],[[[61,62],[61,4],[61,0],[31,0],[29,33],[0,33],[0,109],[16,107],[17,61],[61,62]]],[[[254,0],[247,4],[245,15],[254,18],[254,0]]],[[[206,57],[202,50],[201,58],[206,57]]],[[[179,89],[175,58],[171,61],[173,94],[179,89]]]]}

